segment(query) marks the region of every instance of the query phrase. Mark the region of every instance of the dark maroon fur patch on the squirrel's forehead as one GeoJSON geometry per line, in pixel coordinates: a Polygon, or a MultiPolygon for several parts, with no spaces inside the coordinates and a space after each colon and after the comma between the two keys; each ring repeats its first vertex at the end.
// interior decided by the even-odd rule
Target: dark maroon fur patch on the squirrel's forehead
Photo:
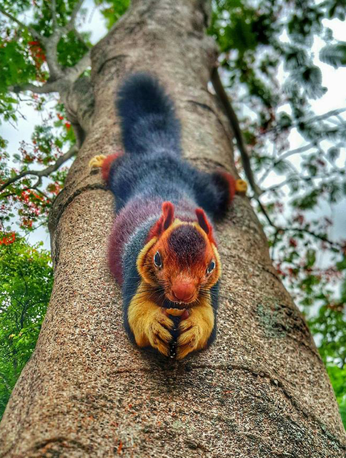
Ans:
{"type": "Polygon", "coordinates": [[[182,224],[173,229],[168,244],[180,264],[191,265],[203,259],[206,242],[198,230],[190,224],[182,224]]]}

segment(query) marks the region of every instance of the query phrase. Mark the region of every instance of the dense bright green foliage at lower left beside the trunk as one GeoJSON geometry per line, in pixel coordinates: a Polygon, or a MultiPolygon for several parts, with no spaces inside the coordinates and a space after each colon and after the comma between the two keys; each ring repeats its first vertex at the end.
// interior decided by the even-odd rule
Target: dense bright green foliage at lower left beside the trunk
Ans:
{"type": "Polygon", "coordinates": [[[48,305],[50,256],[16,234],[0,234],[0,416],[32,355],[48,305]]]}

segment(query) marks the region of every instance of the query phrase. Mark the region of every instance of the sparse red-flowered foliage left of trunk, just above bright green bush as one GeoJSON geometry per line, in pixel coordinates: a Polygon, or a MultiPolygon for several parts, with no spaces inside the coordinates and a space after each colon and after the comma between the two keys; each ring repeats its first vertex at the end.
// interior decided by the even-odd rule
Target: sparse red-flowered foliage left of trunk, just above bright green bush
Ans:
{"type": "MultiPolygon", "coordinates": [[[[36,94],[32,98],[34,105],[40,103],[36,94]]],[[[52,122],[52,117],[53,114],[48,113],[42,124],[35,126],[30,144],[21,142],[18,153],[11,157],[12,166],[4,145],[0,153],[0,183],[34,166],[42,168],[54,164],[61,156],[64,145],[73,143],[71,124],[66,121],[63,109],[56,114],[55,122],[52,122]]],[[[44,224],[54,198],[64,185],[66,173],[67,167],[62,167],[51,173],[44,183],[40,177],[25,176],[19,182],[7,186],[0,194],[0,229],[10,231],[11,226],[8,224],[15,217],[19,228],[26,231],[44,224]]]]}

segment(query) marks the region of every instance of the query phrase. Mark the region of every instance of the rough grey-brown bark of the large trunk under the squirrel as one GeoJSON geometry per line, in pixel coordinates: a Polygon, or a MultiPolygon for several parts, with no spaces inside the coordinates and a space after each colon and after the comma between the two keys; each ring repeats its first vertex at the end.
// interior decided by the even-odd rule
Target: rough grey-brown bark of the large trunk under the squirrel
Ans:
{"type": "Polygon", "coordinates": [[[51,214],[53,294],[3,416],[0,457],[345,457],[327,374],[247,198],[217,227],[213,347],[182,362],[154,358],[123,329],[106,264],[112,198],[87,163],[121,146],[119,82],[150,70],[175,100],[188,159],[235,173],[230,129],[207,90],[208,15],[202,0],[132,1],[91,53],[91,84],[66,97],[86,139],[51,214]]]}

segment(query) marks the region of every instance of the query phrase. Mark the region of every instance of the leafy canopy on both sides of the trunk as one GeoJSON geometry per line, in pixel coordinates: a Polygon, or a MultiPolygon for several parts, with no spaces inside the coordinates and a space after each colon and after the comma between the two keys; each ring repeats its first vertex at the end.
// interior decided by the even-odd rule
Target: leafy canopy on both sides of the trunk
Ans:
{"type": "MultiPolygon", "coordinates": [[[[95,0],[92,7],[110,29],[129,3],[95,0]]],[[[328,26],[345,19],[346,1],[214,0],[212,7],[208,33],[218,44],[218,74],[236,113],[232,128],[242,131],[235,135],[238,170],[252,185],[274,265],[309,320],[346,422],[346,240],[331,237],[333,220],[321,210],[345,201],[345,101],[325,113],[312,108],[328,91],[319,63],[346,66],[346,43],[328,26]],[[311,53],[316,37],[323,43],[319,61],[311,53]],[[301,146],[290,149],[293,134],[301,146]],[[282,181],[272,184],[273,172],[282,181]]],[[[31,142],[18,151],[8,151],[6,136],[0,138],[0,249],[8,264],[0,291],[7,355],[0,389],[8,393],[35,346],[51,287],[47,253],[18,235],[46,223],[68,160],[83,143],[66,87],[90,74],[92,44],[81,24],[88,20],[91,30],[93,21],[82,0],[2,0],[0,13],[1,121],[15,125],[23,104],[42,113],[31,142]],[[25,308],[19,322],[18,307],[25,308]]]]}

